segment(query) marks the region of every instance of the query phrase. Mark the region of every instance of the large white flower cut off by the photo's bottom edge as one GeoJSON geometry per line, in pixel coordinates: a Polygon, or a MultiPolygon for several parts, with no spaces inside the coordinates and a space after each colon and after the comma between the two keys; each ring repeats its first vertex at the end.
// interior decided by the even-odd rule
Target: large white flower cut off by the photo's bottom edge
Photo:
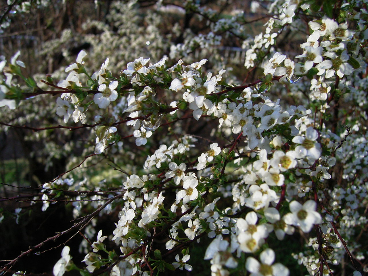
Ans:
{"type": "Polygon", "coordinates": [[[250,276],[289,276],[289,269],[281,263],[272,263],[275,261],[275,252],[267,248],[259,255],[261,263],[255,258],[248,257],[245,262],[245,268],[251,273],[250,276]]]}

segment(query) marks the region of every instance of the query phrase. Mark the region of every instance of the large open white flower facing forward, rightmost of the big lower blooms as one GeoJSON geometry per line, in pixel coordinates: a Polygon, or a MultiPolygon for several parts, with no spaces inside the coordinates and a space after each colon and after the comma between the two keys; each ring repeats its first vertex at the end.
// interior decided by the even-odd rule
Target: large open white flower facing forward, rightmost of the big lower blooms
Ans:
{"type": "Polygon", "coordinates": [[[285,222],[299,226],[304,233],[311,231],[314,224],[322,223],[321,214],[316,212],[317,204],[313,200],[308,200],[303,205],[291,201],[289,208],[291,213],[284,216],[285,222]]]}

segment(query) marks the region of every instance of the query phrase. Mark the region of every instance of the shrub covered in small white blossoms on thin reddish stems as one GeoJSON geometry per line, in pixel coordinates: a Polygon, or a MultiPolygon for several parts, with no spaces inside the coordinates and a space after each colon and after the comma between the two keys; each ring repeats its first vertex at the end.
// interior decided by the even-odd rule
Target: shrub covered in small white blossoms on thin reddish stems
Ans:
{"type": "MultiPolygon", "coordinates": [[[[81,50],[64,72],[26,76],[20,52],[10,62],[4,57],[4,131],[44,132],[42,139],[49,130],[84,132],[74,140],[63,133],[64,148],[46,143],[50,162],[56,152],[69,155],[67,169],[28,199],[42,211],[72,202],[73,226],[6,261],[2,271],[40,254],[49,240],[82,233],[82,263],[73,261],[71,244],[60,244],[55,276],[192,271],[197,243],[211,275],[288,276],[283,261],[290,258],[310,275],[340,273],[346,262],[349,274],[367,272],[366,2],[254,2],[259,14],[247,20],[225,4],[217,10],[191,0],[158,1],[143,11],[140,1],[116,1],[107,19],[119,31],[85,22],[84,30],[95,26],[100,33],[84,34],[91,50],[81,50]],[[206,33],[177,22],[171,35],[161,32],[163,18],[181,13],[195,15],[206,33]],[[254,22],[262,24],[252,36],[254,22]],[[302,40],[297,49],[277,43],[290,33],[302,40]],[[238,70],[221,55],[230,38],[244,49],[238,70]],[[56,114],[50,121],[57,123],[29,124],[47,113],[25,118],[35,104],[56,114]],[[12,117],[17,109],[23,117],[12,117]],[[115,219],[112,233],[96,227],[104,215],[115,219]],[[295,236],[303,246],[291,252],[295,236]]],[[[18,222],[22,209],[15,213],[18,222]]]]}

